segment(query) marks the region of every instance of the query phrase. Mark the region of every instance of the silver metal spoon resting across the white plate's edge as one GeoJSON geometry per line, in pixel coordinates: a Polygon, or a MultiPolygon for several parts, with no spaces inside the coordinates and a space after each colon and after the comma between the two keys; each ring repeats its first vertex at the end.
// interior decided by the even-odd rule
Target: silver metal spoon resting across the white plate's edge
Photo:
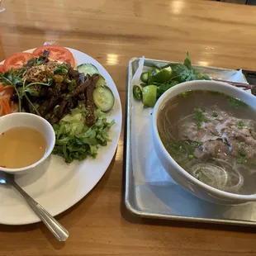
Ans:
{"type": "Polygon", "coordinates": [[[4,173],[0,171],[0,183],[1,184],[10,184],[12,187],[15,187],[18,192],[21,193],[21,196],[26,199],[26,202],[31,209],[40,217],[48,229],[56,239],[59,241],[65,241],[69,237],[69,232],[64,228],[63,225],[60,225],[53,216],[50,215],[38,202],[36,202],[32,197],[30,197],[15,181],[14,175],[11,173],[4,173]]]}

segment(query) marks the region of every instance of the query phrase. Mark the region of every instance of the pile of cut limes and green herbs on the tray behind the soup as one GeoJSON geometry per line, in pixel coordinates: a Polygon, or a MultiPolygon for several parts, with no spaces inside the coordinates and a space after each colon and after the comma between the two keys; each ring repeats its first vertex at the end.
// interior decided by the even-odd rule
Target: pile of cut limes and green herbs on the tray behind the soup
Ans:
{"type": "Polygon", "coordinates": [[[158,98],[169,88],[192,80],[211,80],[206,74],[197,73],[187,52],[183,64],[167,64],[162,68],[152,68],[140,76],[142,83],[133,87],[135,99],[141,100],[145,107],[154,107],[158,98]]]}

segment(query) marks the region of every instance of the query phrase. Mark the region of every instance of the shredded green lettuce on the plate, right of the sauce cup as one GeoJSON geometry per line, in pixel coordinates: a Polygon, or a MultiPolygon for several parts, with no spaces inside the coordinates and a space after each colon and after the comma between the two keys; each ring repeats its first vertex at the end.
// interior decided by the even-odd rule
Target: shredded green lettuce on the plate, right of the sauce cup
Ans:
{"type": "Polygon", "coordinates": [[[56,142],[54,154],[62,156],[67,163],[73,160],[83,160],[87,156],[96,158],[100,145],[106,146],[111,139],[108,131],[115,121],[107,121],[105,113],[95,111],[96,123],[93,126],[85,124],[87,109],[79,106],[54,125],[56,142]]]}

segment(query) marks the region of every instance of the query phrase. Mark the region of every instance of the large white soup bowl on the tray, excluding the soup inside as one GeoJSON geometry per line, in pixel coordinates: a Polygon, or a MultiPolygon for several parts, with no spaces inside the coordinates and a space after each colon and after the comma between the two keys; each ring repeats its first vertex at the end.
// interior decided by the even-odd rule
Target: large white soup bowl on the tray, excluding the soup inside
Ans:
{"type": "MultiPolygon", "coordinates": [[[[170,88],[167,92],[159,98],[158,102],[154,106],[153,111],[153,137],[154,137],[154,149],[158,155],[165,170],[173,178],[173,180],[185,188],[188,192],[191,192],[197,197],[206,201],[211,201],[217,204],[239,204],[246,201],[256,201],[256,195],[239,195],[230,192],[223,192],[214,187],[208,186],[205,183],[201,183],[197,178],[192,177],[183,168],[181,168],[174,159],[168,154],[165,149],[157,128],[157,119],[159,111],[164,106],[164,103],[168,99],[175,97],[176,95],[191,90],[211,90],[216,92],[222,92],[231,97],[237,97],[249,106],[256,109],[256,97],[249,92],[244,92],[239,88],[235,88],[227,83],[219,83],[213,81],[192,81],[186,83],[180,83],[177,86],[170,88]]],[[[255,181],[256,182],[256,181],[255,181]]],[[[172,197],[172,195],[170,195],[172,197]]],[[[175,197],[175,195],[173,195],[175,197]]]]}

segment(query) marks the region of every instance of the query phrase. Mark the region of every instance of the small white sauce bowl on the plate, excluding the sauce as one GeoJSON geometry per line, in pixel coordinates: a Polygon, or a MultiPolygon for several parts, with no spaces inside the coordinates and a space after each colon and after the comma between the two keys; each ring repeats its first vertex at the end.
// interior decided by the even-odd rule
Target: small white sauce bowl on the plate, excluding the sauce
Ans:
{"type": "Polygon", "coordinates": [[[30,127],[38,130],[40,134],[45,137],[45,140],[47,142],[47,148],[45,150],[44,156],[35,164],[31,164],[23,168],[0,167],[0,170],[6,173],[25,173],[27,170],[36,167],[38,164],[43,163],[45,159],[49,157],[55,147],[55,130],[44,118],[36,116],[34,114],[22,112],[0,117],[0,133],[16,127],[30,127]]]}

